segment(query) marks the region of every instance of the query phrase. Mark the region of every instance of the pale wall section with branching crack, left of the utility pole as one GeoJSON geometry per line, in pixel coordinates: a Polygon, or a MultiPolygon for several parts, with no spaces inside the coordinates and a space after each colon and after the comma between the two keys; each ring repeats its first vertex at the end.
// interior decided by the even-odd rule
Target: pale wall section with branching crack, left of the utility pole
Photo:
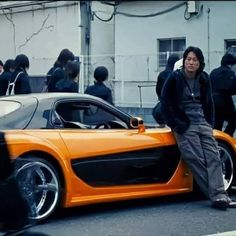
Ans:
{"type": "Polygon", "coordinates": [[[1,10],[0,59],[24,53],[30,60],[29,74],[45,75],[63,48],[80,55],[80,5],[74,2],[12,8],[13,14],[1,10]]]}

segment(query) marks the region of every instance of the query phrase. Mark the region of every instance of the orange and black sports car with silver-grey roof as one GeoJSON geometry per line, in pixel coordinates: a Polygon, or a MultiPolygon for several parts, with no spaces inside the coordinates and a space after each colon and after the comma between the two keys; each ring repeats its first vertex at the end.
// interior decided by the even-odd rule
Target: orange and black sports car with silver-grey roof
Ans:
{"type": "MultiPolygon", "coordinates": [[[[192,175],[168,127],[145,127],[141,118],[93,96],[1,97],[0,130],[37,220],[59,206],[193,190],[192,175]]],[[[214,135],[228,189],[234,183],[236,145],[223,132],[214,135]]]]}

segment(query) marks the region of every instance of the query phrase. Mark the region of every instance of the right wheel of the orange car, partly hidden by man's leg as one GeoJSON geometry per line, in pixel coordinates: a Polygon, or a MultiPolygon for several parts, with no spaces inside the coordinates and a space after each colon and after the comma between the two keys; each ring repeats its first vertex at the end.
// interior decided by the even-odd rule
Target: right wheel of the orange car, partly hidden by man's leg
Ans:
{"type": "Polygon", "coordinates": [[[230,190],[234,181],[234,161],[232,152],[224,143],[219,142],[218,146],[222,162],[225,189],[230,190]]]}

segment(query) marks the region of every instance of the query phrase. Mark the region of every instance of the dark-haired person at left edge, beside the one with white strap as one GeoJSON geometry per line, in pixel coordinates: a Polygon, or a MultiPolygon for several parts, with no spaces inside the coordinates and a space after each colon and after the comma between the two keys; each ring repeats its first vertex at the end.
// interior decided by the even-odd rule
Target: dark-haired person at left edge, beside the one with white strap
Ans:
{"type": "Polygon", "coordinates": [[[3,66],[3,73],[0,75],[0,96],[5,96],[8,84],[11,80],[11,75],[15,70],[13,59],[8,59],[3,66]]]}

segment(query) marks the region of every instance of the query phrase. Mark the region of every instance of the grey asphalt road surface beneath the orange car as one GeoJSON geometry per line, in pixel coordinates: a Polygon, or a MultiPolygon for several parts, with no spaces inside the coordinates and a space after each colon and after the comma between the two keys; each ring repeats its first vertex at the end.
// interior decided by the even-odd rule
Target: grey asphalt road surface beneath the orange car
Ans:
{"type": "MultiPolygon", "coordinates": [[[[236,190],[230,195],[236,200],[236,190]]],[[[235,221],[236,209],[220,211],[204,198],[179,195],[64,209],[27,235],[229,236],[236,235],[235,221]]]]}

